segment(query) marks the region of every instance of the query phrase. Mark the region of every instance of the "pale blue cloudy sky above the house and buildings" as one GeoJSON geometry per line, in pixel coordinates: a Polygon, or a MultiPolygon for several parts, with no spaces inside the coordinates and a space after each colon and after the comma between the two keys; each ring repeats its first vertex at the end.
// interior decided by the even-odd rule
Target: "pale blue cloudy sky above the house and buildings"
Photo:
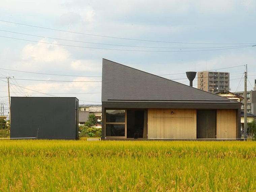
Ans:
{"type": "Polygon", "coordinates": [[[255,0],[1,0],[1,106],[8,77],[11,97],[101,104],[102,58],[185,85],[186,71],[229,72],[231,92],[247,65],[253,90],[255,31],[255,0]]]}

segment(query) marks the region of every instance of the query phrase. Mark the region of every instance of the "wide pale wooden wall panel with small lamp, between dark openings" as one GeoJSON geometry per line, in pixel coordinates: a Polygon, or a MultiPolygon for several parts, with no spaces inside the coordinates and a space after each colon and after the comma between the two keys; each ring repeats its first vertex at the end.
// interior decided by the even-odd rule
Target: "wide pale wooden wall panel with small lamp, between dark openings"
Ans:
{"type": "Polygon", "coordinates": [[[148,138],[196,139],[196,109],[148,109],[148,138]]]}

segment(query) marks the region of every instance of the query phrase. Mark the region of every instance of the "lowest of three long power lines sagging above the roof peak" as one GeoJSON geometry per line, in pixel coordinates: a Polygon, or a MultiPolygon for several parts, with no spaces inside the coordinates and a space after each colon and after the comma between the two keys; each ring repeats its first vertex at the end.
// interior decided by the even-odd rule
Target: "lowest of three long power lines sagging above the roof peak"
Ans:
{"type": "MultiPolygon", "coordinates": [[[[1,21],[1,20],[0,20],[1,21]]],[[[41,41],[34,41],[28,39],[21,39],[21,38],[14,38],[14,37],[7,37],[0,35],[0,37],[9,38],[9,39],[16,39],[16,40],[23,40],[29,42],[36,42],[36,43],[45,43],[51,45],[62,45],[62,46],[70,46],[70,47],[77,47],[77,48],[86,48],[86,49],[98,49],[98,50],[111,50],[111,51],[132,51],[132,52],[200,52],[200,51],[220,51],[220,50],[230,50],[230,49],[240,49],[245,47],[252,47],[252,45],[245,45],[239,47],[231,47],[231,48],[223,48],[223,49],[208,49],[208,50],[177,50],[177,51],[156,51],[156,50],[124,50],[124,49],[108,49],[108,48],[99,48],[99,47],[87,47],[87,46],[78,46],[78,45],[67,45],[67,44],[60,44],[60,43],[49,43],[49,42],[41,42],[41,41]]]]}

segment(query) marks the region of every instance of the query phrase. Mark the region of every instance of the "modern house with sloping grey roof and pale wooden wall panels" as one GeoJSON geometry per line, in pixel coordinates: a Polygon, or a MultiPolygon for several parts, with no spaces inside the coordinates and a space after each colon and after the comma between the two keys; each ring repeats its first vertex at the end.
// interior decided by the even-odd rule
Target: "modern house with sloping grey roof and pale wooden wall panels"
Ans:
{"type": "Polygon", "coordinates": [[[102,139],[240,138],[241,103],[102,61],[102,139]]]}

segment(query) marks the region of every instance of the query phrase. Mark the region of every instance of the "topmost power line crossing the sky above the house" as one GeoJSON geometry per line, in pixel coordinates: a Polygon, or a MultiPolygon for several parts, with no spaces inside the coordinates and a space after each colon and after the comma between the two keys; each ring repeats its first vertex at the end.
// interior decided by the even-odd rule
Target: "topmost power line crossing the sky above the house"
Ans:
{"type": "MultiPolygon", "coordinates": [[[[106,35],[96,35],[96,34],[90,34],[90,33],[81,33],[81,32],[73,32],[73,31],[66,31],[61,29],[54,29],[54,28],[48,28],[48,27],[40,27],[35,25],[28,25],[23,23],[16,23],[11,21],[5,21],[0,20],[2,22],[6,23],[12,23],[17,25],[23,25],[28,27],[35,27],[40,29],[48,29],[48,30],[54,30],[54,31],[61,31],[61,32],[67,32],[67,33],[74,33],[74,34],[81,34],[81,35],[90,35],[90,36],[96,36],[96,37],[105,37],[105,38],[114,38],[114,39],[124,39],[124,40],[133,40],[133,41],[147,41],[147,42],[160,42],[160,43],[180,43],[180,44],[222,44],[222,45],[231,45],[231,44],[256,44],[256,43],[194,43],[194,42],[175,42],[175,41],[156,41],[156,40],[146,40],[146,39],[133,39],[133,38],[123,38],[123,37],[114,37],[114,36],[106,36],[106,35]]],[[[256,45],[253,45],[256,46],[256,45]]]]}

